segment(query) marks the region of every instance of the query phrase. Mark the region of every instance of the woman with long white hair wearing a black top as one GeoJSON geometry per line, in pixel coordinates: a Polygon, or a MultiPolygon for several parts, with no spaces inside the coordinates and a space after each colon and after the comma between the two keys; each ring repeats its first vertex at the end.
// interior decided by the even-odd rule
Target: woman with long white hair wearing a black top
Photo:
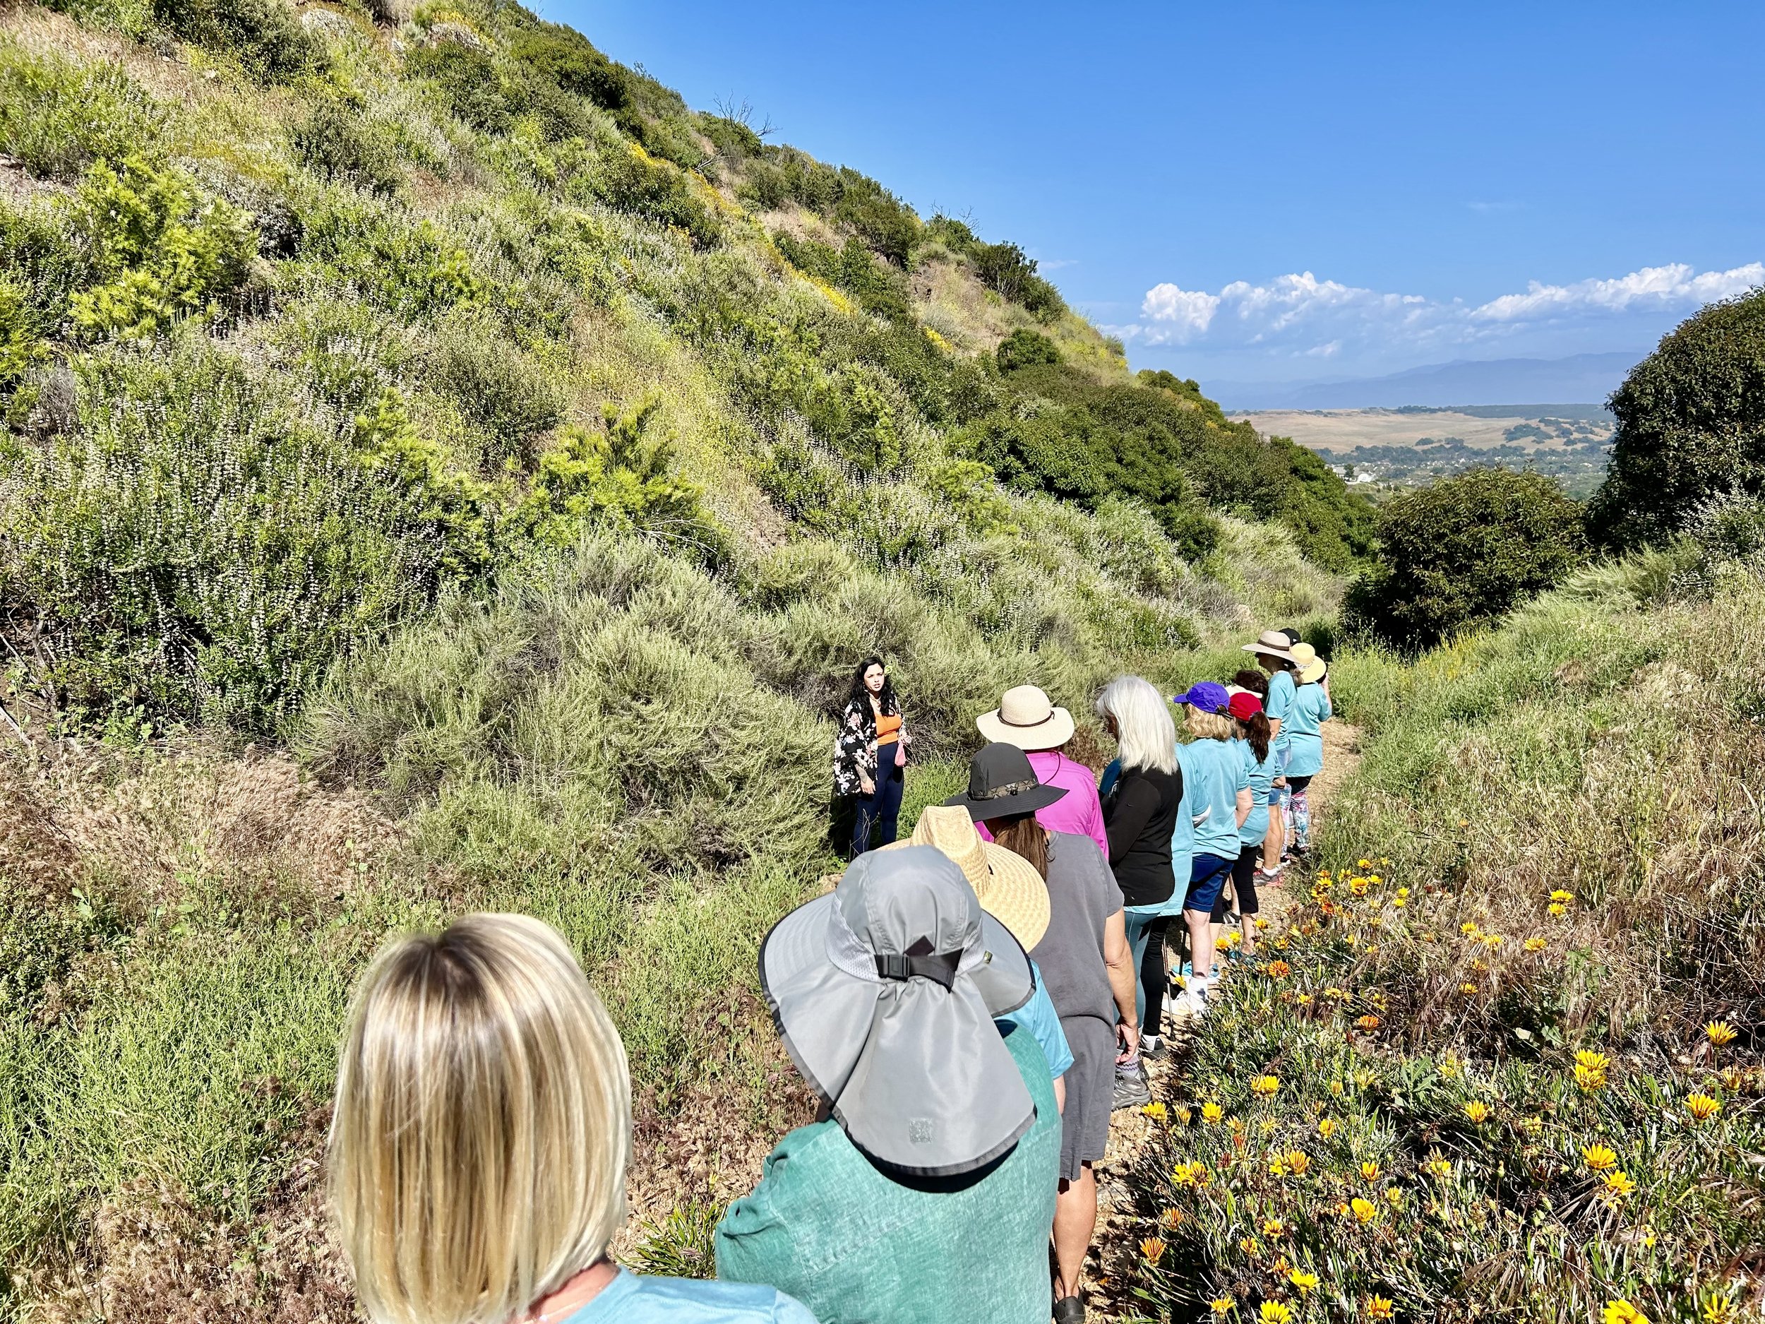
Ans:
{"type": "MultiPolygon", "coordinates": [[[[1140,676],[1117,676],[1098,696],[1096,713],[1119,745],[1121,771],[1103,801],[1108,861],[1121,888],[1128,944],[1138,969],[1140,1045],[1158,1052],[1165,1004],[1165,927],[1175,897],[1170,837],[1183,805],[1177,727],[1163,696],[1140,676]]],[[[1181,897],[1175,897],[1181,906],[1181,897]]],[[[1151,1098],[1137,1061],[1123,1063],[1117,1107],[1151,1098]]]]}

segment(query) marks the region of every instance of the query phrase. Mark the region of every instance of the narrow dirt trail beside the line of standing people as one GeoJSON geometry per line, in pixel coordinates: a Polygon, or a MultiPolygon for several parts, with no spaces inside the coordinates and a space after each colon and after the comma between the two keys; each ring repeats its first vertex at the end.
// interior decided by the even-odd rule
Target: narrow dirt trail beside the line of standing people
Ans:
{"type": "MultiPolygon", "coordinates": [[[[1329,812],[1341,780],[1361,761],[1359,736],[1359,729],[1345,722],[1324,724],[1324,771],[1311,779],[1313,824],[1317,824],[1318,816],[1329,812]]],[[[1274,925],[1292,906],[1292,893],[1285,886],[1276,886],[1260,893],[1258,900],[1262,902],[1262,916],[1274,925]]],[[[1183,957],[1177,955],[1179,966],[1181,960],[1183,957]]],[[[1172,1012],[1167,1006],[1167,1029],[1170,1019],[1172,1012]]],[[[1147,1063],[1147,1070],[1153,1098],[1168,1098],[1170,1059],[1147,1063]]],[[[1098,1230],[1093,1237],[1091,1259],[1085,1264],[1085,1313],[1089,1319],[1114,1320],[1137,1313],[1128,1292],[1133,1285],[1133,1268],[1140,1259],[1140,1239],[1153,1236],[1153,1229],[1135,1209],[1128,1176],[1153,1140],[1154,1130],[1156,1123],[1138,1110],[1124,1109],[1110,1119],[1108,1151],[1098,1163],[1098,1230]]]]}

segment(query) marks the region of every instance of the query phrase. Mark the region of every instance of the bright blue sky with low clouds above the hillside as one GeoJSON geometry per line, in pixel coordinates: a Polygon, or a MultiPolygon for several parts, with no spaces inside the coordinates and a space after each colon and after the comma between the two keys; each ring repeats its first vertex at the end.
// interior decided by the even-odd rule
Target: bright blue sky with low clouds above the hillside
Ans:
{"type": "Polygon", "coordinates": [[[1022,244],[1137,367],[1643,351],[1765,282],[1756,0],[533,7],[1022,244]]]}

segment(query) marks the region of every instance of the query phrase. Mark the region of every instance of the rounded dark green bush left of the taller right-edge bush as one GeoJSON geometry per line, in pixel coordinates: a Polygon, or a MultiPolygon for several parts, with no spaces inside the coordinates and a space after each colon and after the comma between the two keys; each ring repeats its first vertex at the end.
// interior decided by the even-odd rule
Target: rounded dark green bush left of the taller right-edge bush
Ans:
{"type": "Polygon", "coordinates": [[[1470,470],[1380,512],[1373,568],[1345,613],[1400,648],[1428,646],[1507,614],[1581,556],[1581,508],[1553,478],[1470,470]]]}

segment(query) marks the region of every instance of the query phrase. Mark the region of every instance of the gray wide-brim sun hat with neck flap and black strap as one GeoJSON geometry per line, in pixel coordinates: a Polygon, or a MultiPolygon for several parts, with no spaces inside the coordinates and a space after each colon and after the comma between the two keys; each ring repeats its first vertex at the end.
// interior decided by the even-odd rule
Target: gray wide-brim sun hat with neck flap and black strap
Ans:
{"type": "Polygon", "coordinates": [[[973,1172],[1036,1121],[994,1026],[1034,994],[1029,957],[943,851],[858,856],[766,936],[761,987],[796,1070],[884,1167],[973,1172]]]}

